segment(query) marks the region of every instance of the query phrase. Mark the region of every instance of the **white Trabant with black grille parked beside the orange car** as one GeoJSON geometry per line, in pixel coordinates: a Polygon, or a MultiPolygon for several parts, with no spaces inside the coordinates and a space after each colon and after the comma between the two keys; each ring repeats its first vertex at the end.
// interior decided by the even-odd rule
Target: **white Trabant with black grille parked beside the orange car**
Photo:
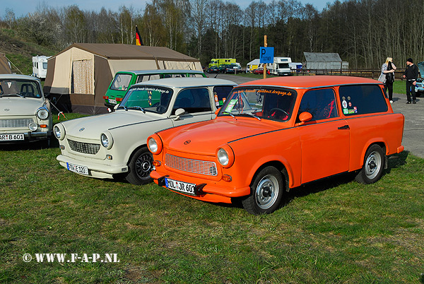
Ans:
{"type": "Polygon", "coordinates": [[[57,160],[88,177],[151,182],[148,136],[213,119],[235,85],[217,78],[167,78],[132,85],[114,112],[55,124],[53,133],[61,149],[57,160]]]}

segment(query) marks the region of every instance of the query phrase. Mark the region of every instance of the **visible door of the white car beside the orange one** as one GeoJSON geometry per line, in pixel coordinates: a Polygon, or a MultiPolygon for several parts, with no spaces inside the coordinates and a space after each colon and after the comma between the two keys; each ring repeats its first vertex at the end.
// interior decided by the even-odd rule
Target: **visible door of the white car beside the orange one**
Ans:
{"type": "Polygon", "coordinates": [[[174,126],[212,119],[213,111],[210,97],[209,90],[206,87],[180,90],[172,107],[171,118],[175,118],[175,111],[180,108],[185,110],[185,114],[177,120],[172,120],[174,126]]]}

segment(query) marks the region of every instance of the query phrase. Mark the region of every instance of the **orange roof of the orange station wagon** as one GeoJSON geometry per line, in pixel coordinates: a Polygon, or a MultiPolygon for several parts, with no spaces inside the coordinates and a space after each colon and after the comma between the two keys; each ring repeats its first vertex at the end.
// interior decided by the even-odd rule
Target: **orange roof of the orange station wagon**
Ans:
{"type": "Polygon", "coordinates": [[[260,80],[254,80],[247,83],[242,83],[240,86],[245,85],[261,85],[261,86],[279,86],[286,88],[319,88],[332,85],[351,85],[351,84],[382,84],[377,80],[369,78],[353,77],[353,76],[288,76],[288,77],[274,77],[260,80]]]}

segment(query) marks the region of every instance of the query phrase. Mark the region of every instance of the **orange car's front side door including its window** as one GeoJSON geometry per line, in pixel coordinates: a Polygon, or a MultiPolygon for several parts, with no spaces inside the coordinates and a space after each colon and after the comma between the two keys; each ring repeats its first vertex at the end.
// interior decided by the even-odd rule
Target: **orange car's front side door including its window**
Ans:
{"type": "Polygon", "coordinates": [[[302,96],[299,112],[312,120],[298,126],[302,153],[302,184],[349,169],[350,130],[338,113],[333,88],[310,90],[302,96]]]}

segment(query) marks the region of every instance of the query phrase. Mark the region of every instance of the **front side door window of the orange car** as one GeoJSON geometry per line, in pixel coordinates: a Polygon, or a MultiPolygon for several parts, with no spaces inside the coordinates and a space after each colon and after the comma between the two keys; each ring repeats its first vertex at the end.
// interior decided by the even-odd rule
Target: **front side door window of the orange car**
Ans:
{"type": "Polygon", "coordinates": [[[333,89],[310,90],[302,97],[299,112],[312,114],[312,121],[338,117],[336,95],[333,89]]]}

